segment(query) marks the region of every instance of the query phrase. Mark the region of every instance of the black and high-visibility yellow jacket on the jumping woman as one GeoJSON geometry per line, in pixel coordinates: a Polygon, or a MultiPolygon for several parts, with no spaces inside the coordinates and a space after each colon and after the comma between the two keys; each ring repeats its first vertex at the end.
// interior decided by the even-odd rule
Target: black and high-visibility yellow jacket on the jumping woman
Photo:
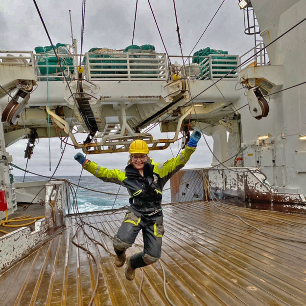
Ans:
{"type": "Polygon", "coordinates": [[[131,206],[141,213],[149,214],[161,208],[166,181],[185,166],[194,151],[195,148],[186,146],[176,158],[171,158],[164,163],[155,163],[152,158],[149,158],[144,164],[143,176],[132,164],[127,165],[123,172],[101,167],[94,161],[85,162],[83,168],[105,182],[126,187],[131,196],[131,206]]]}

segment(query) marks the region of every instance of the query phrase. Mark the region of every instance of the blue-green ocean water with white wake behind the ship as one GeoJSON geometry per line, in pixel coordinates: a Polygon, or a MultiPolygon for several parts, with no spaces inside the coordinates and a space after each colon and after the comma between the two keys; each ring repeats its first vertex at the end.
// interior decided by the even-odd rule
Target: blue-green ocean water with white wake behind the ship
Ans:
{"type": "MultiPolygon", "coordinates": [[[[78,184],[79,176],[54,176],[54,178],[67,179],[73,184],[78,184]]],[[[22,182],[23,179],[25,182],[29,181],[42,181],[46,178],[41,176],[14,176],[15,182],[22,182]]],[[[102,180],[96,178],[94,175],[82,175],[79,186],[93,189],[94,191],[87,190],[81,187],[73,185],[74,190],[76,191],[76,199],[79,208],[79,212],[92,212],[99,210],[107,210],[112,208],[120,208],[125,205],[129,205],[129,195],[126,188],[120,187],[114,183],[105,183],[102,180]],[[119,189],[120,187],[120,189],[119,189]],[[115,195],[102,194],[99,192],[107,192],[115,195]],[[117,194],[125,196],[117,196],[117,194]]],[[[167,182],[164,189],[170,187],[170,183],[167,182]]],[[[170,203],[171,196],[170,190],[163,191],[163,204],[170,203]]],[[[72,195],[71,195],[72,203],[72,195]]]]}

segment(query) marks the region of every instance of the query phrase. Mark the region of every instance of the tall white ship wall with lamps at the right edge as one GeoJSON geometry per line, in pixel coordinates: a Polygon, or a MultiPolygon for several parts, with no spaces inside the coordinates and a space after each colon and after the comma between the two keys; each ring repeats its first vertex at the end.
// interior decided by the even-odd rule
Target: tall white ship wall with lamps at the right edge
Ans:
{"type": "MultiPolygon", "coordinates": [[[[282,35],[305,18],[306,0],[252,0],[265,45],[282,35]],[[292,6],[292,2],[296,2],[292,6]]],[[[285,34],[267,48],[272,65],[283,66],[283,86],[278,91],[306,80],[306,22],[285,34]]],[[[274,76],[271,74],[271,79],[274,76]]],[[[237,107],[247,103],[243,90],[237,107]]],[[[259,166],[271,185],[281,192],[306,194],[306,86],[295,87],[267,97],[270,112],[266,118],[257,120],[248,107],[241,109],[242,142],[248,146],[244,151],[244,166],[259,166]],[[264,143],[259,135],[270,133],[264,143]],[[282,187],[284,187],[282,189],[282,187]]]]}

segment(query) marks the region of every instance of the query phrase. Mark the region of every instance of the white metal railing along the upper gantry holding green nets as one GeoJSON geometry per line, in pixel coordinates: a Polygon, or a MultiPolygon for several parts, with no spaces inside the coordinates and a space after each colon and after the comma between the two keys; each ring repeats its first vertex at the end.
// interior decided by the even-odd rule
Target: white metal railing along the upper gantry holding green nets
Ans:
{"type": "MultiPolygon", "coordinates": [[[[32,51],[0,50],[0,65],[34,66],[38,81],[65,81],[58,63],[53,62],[50,65],[46,61],[46,65],[38,65],[39,59],[43,56],[42,53],[35,54],[32,51]]],[[[61,59],[66,78],[69,81],[76,79],[80,55],[58,54],[58,57],[61,59]],[[70,64],[65,65],[67,59],[70,60],[70,64]]],[[[183,56],[182,58],[150,52],[87,52],[82,57],[84,57],[82,65],[85,68],[83,77],[94,82],[167,81],[173,74],[199,81],[218,80],[222,77],[224,80],[238,79],[238,69],[235,67],[239,65],[239,56],[231,54],[183,56]],[[197,58],[197,63],[192,63],[194,58],[197,58]]]]}

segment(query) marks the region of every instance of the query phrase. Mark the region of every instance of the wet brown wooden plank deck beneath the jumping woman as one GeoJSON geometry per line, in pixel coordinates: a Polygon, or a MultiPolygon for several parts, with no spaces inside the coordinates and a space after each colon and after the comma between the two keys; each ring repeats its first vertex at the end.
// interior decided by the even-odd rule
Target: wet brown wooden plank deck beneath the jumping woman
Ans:
{"type": "MultiPolygon", "coordinates": [[[[306,305],[305,216],[200,201],[165,205],[164,215],[160,262],[174,305],[306,305]]],[[[82,215],[112,236],[123,217],[123,211],[82,215]]],[[[0,276],[0,305],[88,305],[97,267],[71,243],[75,218],[68,217],[62,234],[0,276]]],[[[113,252],[108,236],[88,226],[86,232],[113,252]]],[[[117,268],[82,231],[77,242],[99,262],[93,305],[170,305],[159,262],[143,268],[140,304],[140,269],[134,281],[127,281],[125,266],[117,268]]],[[[142,244],[141,235],[136,243],[142,244]]],[[[138,251],[136,245],[127,254],[138,251]]]]}

